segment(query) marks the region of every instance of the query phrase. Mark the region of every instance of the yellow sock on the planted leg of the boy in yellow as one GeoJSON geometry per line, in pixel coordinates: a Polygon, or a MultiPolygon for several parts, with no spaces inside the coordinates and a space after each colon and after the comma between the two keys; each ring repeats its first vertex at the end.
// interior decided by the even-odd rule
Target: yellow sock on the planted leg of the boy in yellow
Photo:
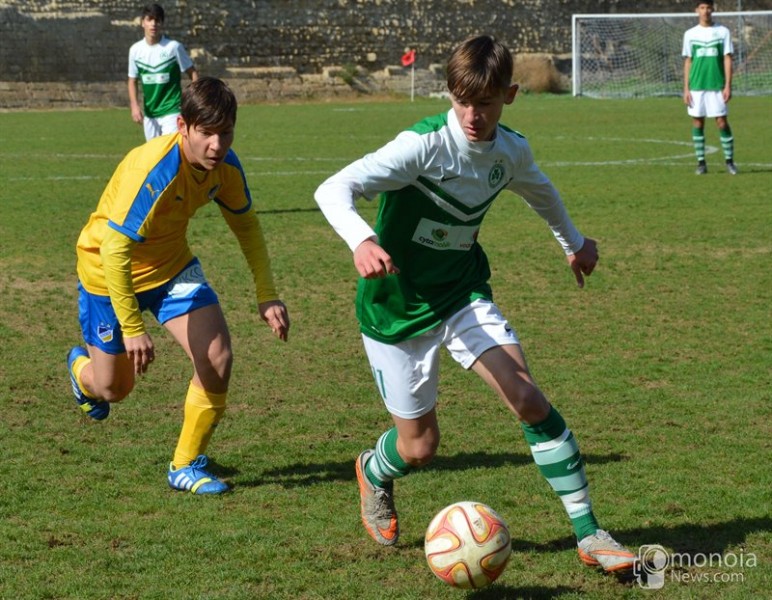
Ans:
{"type": "Polygon", "coordinates": [[[174,469],[189,465],[199,454],[205,453],[214,428],[225,412],[227,396],[227,392],[212,394],[190,383],[182,431],[172,460],[174,469]]]}

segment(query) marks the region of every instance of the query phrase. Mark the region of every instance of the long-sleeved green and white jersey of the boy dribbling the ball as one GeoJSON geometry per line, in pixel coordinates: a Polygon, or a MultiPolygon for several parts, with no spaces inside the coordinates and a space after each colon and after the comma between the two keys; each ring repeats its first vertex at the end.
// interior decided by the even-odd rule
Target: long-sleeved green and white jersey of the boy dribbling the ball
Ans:
{"type": "MultiPolygon", "coordinates": [[[[354,250],[377,234],[399,275],[360,278],[356,311],[364,335],[396,343],[420,335],[476,298],[492,299],[480,225],[503,190],[522,196],[566,252],[584,238],[523,136],[499,127],[492,142],[467,141],[455,113],[437,115],[351,163],[317,190],[316,200],[354,250]],[[357,197],[381,202],[375,229],[357,197]]],[[[517,243],[513,230],[512,241],[517,243]]]]}

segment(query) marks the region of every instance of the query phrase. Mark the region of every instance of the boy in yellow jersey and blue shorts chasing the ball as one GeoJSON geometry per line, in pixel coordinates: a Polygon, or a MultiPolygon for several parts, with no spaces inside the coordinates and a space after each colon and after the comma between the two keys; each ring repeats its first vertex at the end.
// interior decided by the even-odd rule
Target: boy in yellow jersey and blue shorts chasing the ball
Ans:
{"type": "Polygon", "coordinates": [[[79,317],[86,348],[67,356],[75,400],[108,416],[155,359],[142,311],[149,310],[193,363],[169,485],[195,494],[228,486],[207,471],[204,452],[225,411],[233,354],[217,295],[188,246],[188,221],[214,201],[239,241],[255,282],[260,317],[283,341],[289,316],[279,300],[246,178],[231,150],[236,98],[213,77],[183,93],[174,135],[123,159],[77,244],[79,317]]]}

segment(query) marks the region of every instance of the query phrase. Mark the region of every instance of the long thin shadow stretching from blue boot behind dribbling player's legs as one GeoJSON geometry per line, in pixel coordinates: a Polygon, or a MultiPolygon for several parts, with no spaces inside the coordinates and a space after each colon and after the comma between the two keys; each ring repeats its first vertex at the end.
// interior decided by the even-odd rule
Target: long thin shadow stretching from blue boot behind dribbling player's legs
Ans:
{"type": "MultiPolygon", "coordinates": [[[[263,471],[263,476],[252,481],[240,481],[239,486],[281,485],[283,487],[303,487],[329,481],[351,481],[354,475],[354,460],[327,463],[295,463],[276,469],[263,471]]],[[[622,454],[590,454],[585,460],[593,465],[626,460],[622,454]]],[[[429,471],[464,471],[467,469],[498,469],[507,466],[533,465],[530,454],[489,452],[462,452],[454,456],[437,456],[431,464],[421,469],[429,471]]],[[[535,468],[535,467],[534,467],[535,468]]]]}

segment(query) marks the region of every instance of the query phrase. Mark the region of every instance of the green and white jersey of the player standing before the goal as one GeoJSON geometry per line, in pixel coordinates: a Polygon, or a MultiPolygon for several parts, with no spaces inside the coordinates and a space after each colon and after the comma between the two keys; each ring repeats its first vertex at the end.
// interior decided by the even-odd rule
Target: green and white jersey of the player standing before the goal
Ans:
{"type": "Polygon", "coordinates": [[[689,70],[689,89],[720,91],[726,84],[724,56],[732,54],[729,29],[714,23],[710,27],[696,25],[684,33],[681,53],[692,59],[689,70]]]}

